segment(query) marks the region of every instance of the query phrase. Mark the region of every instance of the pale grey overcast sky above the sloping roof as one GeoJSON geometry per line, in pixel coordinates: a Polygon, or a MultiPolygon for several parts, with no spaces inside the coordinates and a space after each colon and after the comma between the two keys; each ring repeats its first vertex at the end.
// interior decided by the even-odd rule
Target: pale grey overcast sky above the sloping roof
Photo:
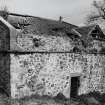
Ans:
{"type": "Polygon", "coordinates": [[[82,25],[92,10],[93,0],[0,0],[10,12],[33,15],[82,25]]]}

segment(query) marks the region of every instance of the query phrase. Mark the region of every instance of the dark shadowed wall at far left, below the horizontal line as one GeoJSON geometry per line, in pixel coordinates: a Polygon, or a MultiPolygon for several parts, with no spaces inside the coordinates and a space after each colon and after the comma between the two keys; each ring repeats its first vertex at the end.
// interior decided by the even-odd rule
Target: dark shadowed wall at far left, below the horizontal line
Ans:
{"type": "Polygon", "coordinates": [[[0,54],[0,94],[10,96],[10,55],[0,54]]]}

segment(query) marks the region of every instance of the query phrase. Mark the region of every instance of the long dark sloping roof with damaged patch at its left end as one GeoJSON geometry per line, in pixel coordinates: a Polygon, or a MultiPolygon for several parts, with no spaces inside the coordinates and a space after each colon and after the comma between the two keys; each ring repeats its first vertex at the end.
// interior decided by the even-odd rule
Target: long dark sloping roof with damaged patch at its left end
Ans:
{"type": "Polygon", "coordinates": [[[57,20],[18,14],[9,14],[8,22],[15,28],[23,29],[23,33],[28,34],[53,34],[53,32],[56,31],[71,33],[71,29],[77,28],[77,26],[64,21],[61,22],[57,20]],[[23,23],[24,27],[21,28],[18,26],[18,24],[22,26],[22,19],[26,19],[27,21],[26,23],[23,23]]]}

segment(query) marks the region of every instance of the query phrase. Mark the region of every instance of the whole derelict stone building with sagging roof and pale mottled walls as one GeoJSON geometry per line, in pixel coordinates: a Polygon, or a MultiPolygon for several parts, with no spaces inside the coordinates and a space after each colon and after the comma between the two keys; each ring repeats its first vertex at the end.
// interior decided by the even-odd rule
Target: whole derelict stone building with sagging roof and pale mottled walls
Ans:
{"type": "Polygon", "coordinates": [[[12,98],[104,93],[105,56],[89,53],[86,46],[96,40],[94,30],[97,36],[104,34],[97,25],[88,33],[84,28],[89,29],[17,14],[0,17],[0,88],[12,98]]]}

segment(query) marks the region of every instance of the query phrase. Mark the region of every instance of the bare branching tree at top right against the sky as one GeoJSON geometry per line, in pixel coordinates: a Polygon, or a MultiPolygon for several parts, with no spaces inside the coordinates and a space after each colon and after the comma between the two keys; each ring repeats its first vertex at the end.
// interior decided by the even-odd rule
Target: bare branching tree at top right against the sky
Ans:
{"type": "Polygon", "coordinates": [[[105,0],[93,1],[93,6],[96,11],[87,16],[87,22],[91,23],[99,19],[105,20],[105,0]]]}

